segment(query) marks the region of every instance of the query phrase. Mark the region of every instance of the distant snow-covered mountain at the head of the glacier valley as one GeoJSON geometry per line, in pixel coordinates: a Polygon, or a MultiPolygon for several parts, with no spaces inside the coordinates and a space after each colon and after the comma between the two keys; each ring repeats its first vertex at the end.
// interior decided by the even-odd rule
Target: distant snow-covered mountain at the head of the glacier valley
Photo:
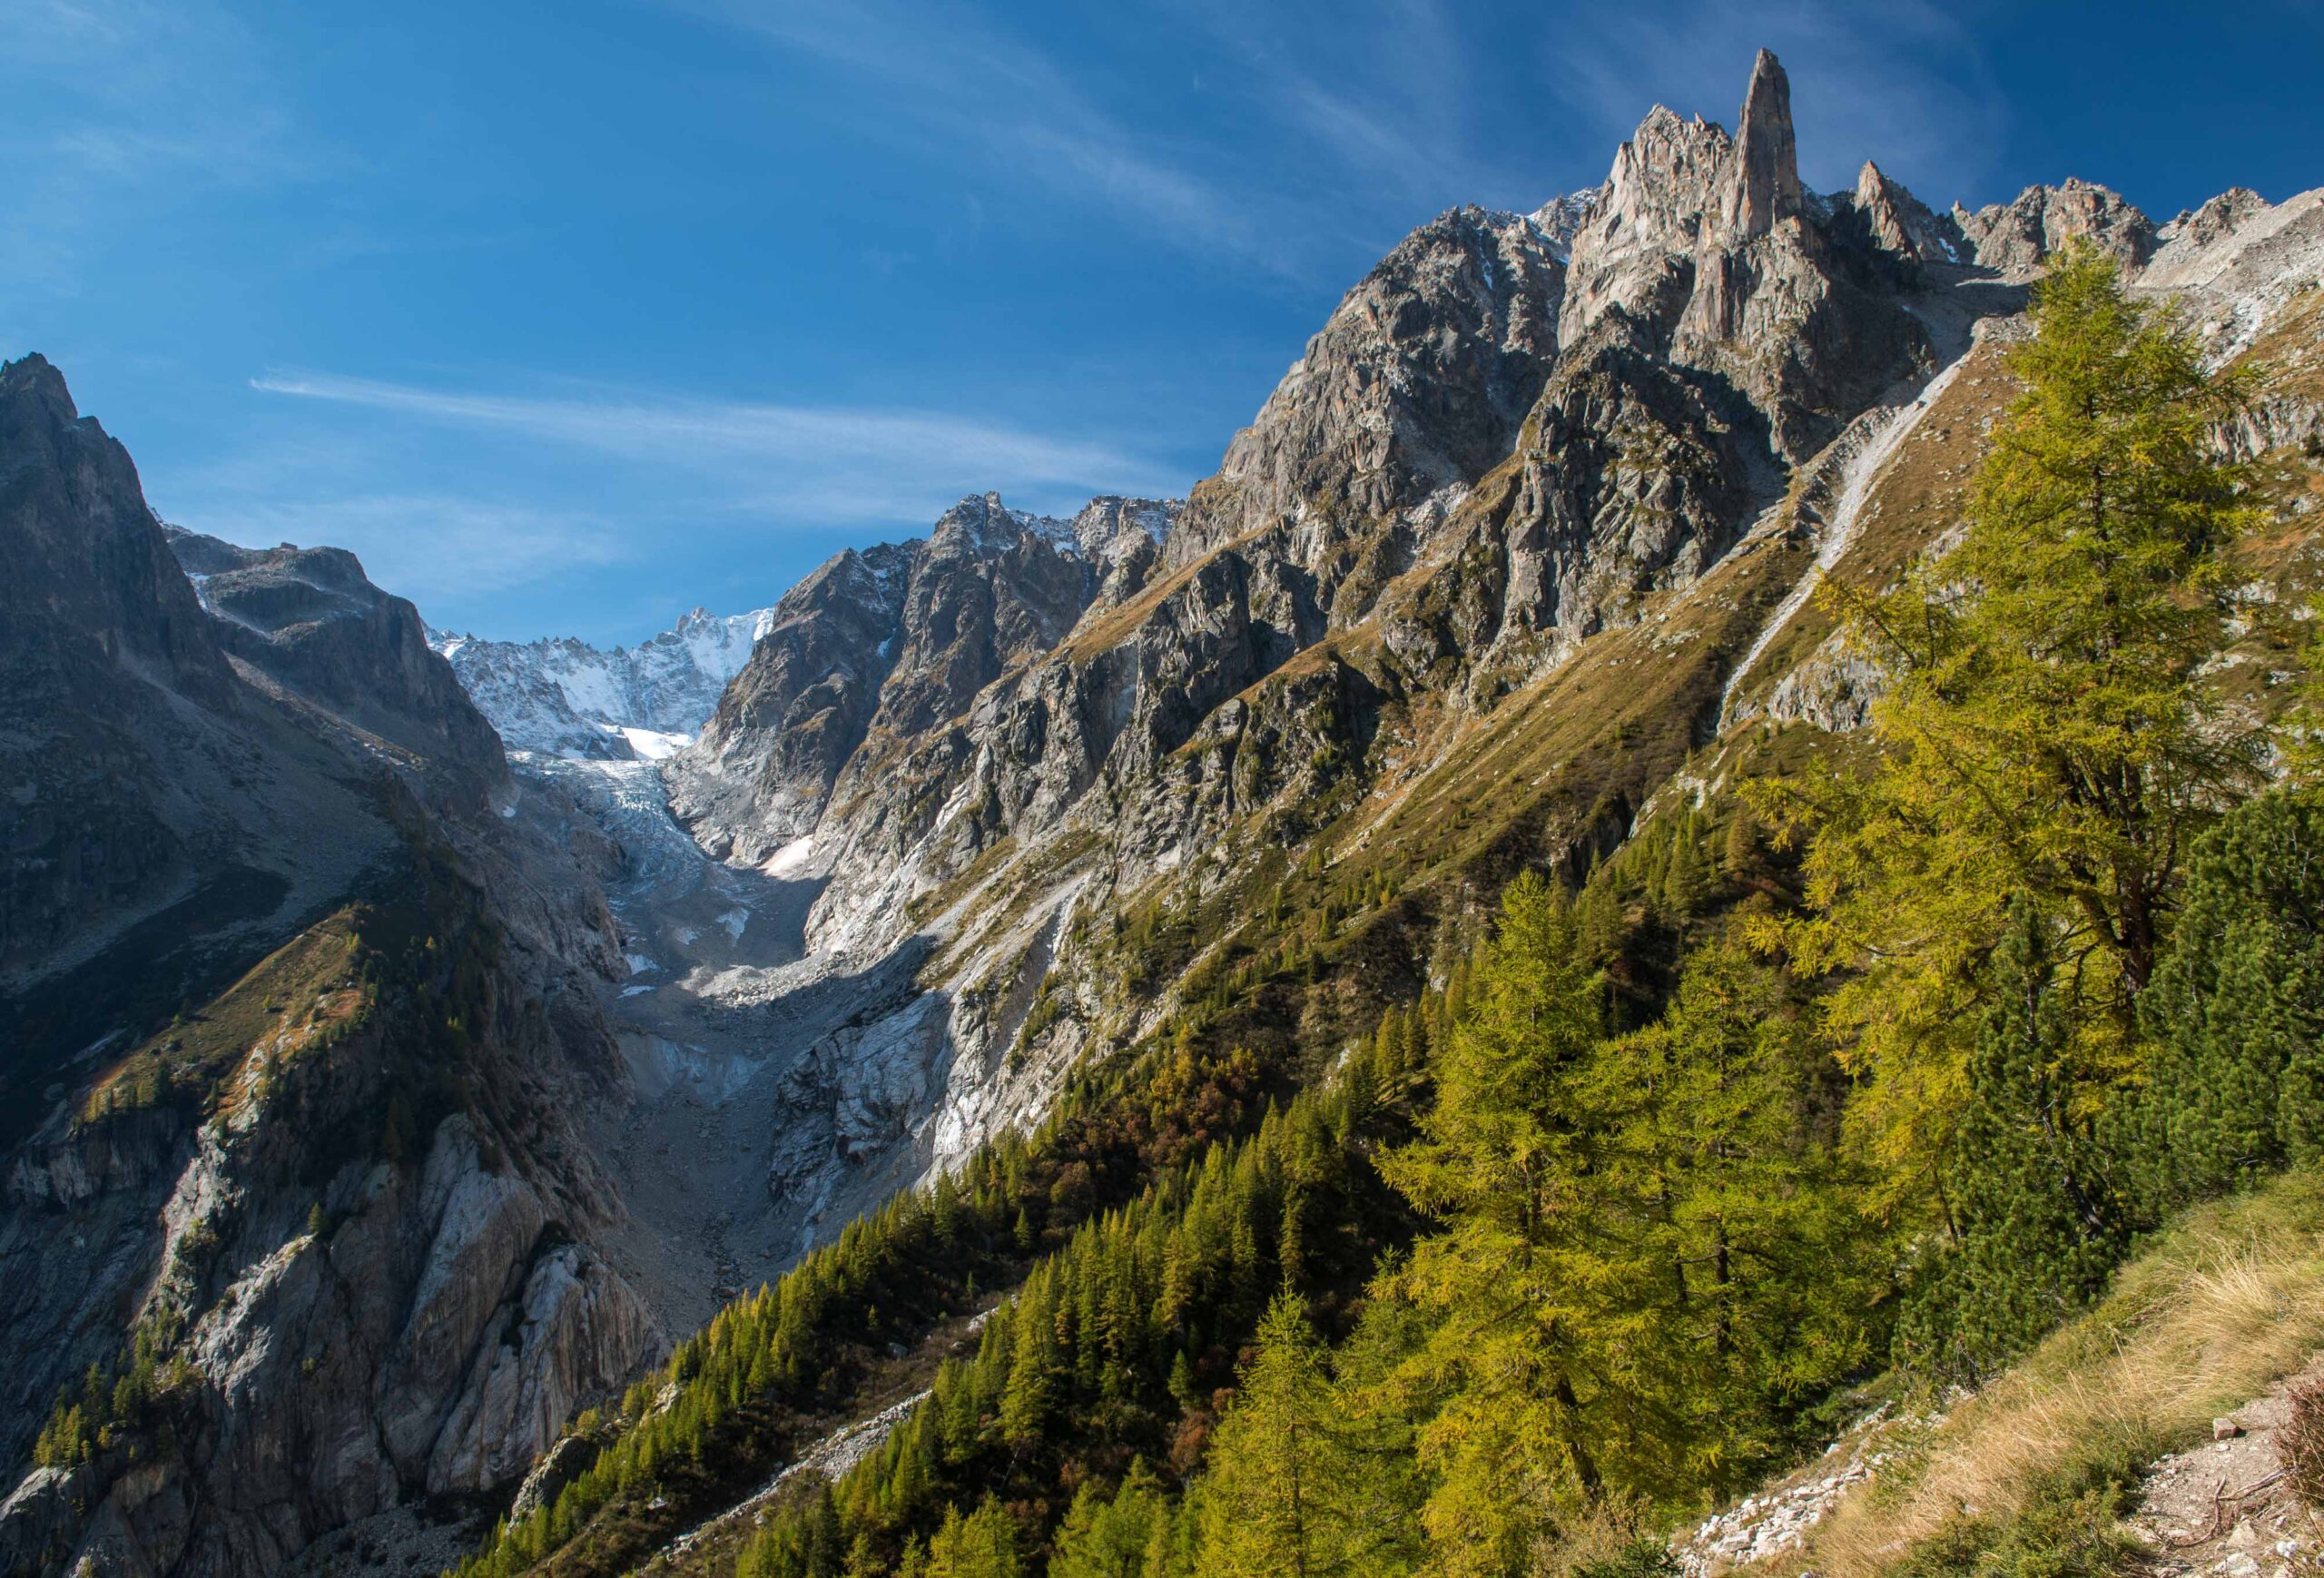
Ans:
{"type": "Polygon", "coordinates": [[[488,641],[442,630],[428,644],[511,751],[639,760],[669,755],[709,723],[772,623],[774,609],[695,609],[651,641],[614,651],[572,637],[488,641]]]}

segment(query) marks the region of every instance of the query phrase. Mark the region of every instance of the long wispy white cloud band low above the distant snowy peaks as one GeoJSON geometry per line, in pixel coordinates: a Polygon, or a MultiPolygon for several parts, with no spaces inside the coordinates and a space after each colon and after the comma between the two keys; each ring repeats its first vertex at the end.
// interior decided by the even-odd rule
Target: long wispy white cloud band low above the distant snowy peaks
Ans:
{"type": "Polygon", "coordinates": [[[242,446],[149,472],[165,518],[230,541],[349,548],[430,621],[493,632],[511,627],[511,607],[555,609],[595,588],[590,618],[551,614],[548,627],[634,639],[672,597],[772,602],[788,576],[767,581],[767,562],[797,574],[839,541],[925,532],[967,493],[1062,511],[1192,481],[1122,444],[918,409],[304,370],[267,372],[251,390],[272,400],[253,407],[242,446]],[[669,562],[690,569],[672,576],[669,562]],[[651,588],[651,614],[614,616],[607,588],[625,579],[651,588]]]}

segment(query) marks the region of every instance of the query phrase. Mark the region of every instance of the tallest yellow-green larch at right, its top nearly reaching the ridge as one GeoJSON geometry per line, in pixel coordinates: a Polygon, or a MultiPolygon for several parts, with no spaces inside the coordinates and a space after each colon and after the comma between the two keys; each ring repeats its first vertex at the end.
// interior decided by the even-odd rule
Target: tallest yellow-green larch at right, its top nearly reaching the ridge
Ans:
{"type": "Polygon", "coordinates": [[[1827,1030],[1878,1076],[1862,1111],[1899,1185],[1959,1109],[1959,1027],[2015,895],[2066,927],[2078,1055],[2099,1081],[2129,1069],[2187,848],[2266,753],[2203,683],[2229,639],[2224,551],[2252,523],[2210,430],[2247,383],[2208,374],[2089,246],[2057,258],[2031,321],[1959,544],[1885,595],[1824,588],[1887,676],[1875,762],[1752,792],[1808,837],[1808,913],[1759,941],[1843,971],[1827,1030]]]}

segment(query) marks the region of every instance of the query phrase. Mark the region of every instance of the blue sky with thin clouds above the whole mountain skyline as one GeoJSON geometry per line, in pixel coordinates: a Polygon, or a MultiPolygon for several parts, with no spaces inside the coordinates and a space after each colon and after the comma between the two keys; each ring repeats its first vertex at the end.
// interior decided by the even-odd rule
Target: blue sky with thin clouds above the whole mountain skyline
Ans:
{"type": "Polygon", "coordinates": [[[1792,72],[1806,177],[2324,184],[2324,5],[7,0],[0,353],[170,521],[630,641],[1206,474],[1455,202],[1792,72]]]}

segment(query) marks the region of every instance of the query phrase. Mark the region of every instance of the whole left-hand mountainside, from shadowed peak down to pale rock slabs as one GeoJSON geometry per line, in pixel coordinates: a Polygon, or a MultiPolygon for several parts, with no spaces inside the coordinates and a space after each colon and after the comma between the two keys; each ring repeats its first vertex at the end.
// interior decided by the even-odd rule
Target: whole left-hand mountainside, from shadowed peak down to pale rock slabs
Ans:
{"type": "Polygon", "coordinates": [[[16,1485],[0,1569],[270,1573],[511,1483],[667,1341],[576,1127],[621,1083],[588,839],[409,602],[165,530],[40,358],[0,532],[0,1457],[158,1376],[16,1485]]]}

